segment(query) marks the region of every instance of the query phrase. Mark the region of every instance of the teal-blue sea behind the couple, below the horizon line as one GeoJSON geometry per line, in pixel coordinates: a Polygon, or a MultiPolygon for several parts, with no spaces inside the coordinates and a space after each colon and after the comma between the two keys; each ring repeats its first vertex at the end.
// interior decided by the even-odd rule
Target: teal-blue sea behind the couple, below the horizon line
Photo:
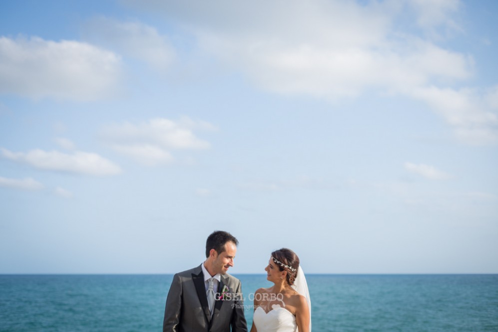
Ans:
{"type": "MultiPolygon", "coordinates": [[[[265,275],[242,282],[251,294],[265,275]]],[[[0,275],[0,331],[162,331],[173,275],[0,275]]],[[[312,331],[497,331],[498,275],[312,275],[312,331]]]]}

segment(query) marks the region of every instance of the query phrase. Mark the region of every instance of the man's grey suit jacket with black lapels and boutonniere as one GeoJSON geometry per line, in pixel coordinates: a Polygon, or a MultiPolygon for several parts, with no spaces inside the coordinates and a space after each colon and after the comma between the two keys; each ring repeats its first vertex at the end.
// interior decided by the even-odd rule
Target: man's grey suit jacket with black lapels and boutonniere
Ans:
{"type": "Polygon", "coordinates": [[[207,304],[202,268],[177,273],[166,299],[163,332],[247,332],[240,281],[222,275],[218,287],[221,294],[227,286],[229,294],[216,300],[213,316],[207,304]]]}

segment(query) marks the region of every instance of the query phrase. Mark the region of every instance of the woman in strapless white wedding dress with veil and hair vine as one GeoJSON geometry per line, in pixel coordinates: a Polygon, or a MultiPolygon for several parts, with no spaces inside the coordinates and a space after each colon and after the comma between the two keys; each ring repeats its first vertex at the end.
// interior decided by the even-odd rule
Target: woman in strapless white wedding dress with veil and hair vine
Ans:
{"type": "Polygon", "coordinates": [[[299,257],[282,248],[271,254],[265,268],[274,283],[254,294],[251,332],[311,332],[311,302],[299,257]]]}

